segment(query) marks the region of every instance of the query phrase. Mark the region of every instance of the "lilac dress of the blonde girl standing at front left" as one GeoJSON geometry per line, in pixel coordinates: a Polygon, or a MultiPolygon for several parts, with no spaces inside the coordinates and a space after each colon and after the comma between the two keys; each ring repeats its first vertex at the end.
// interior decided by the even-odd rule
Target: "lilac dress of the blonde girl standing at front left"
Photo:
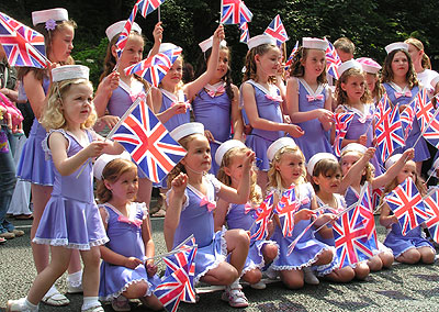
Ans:
{"type": "MultiPolygon", "coordinates": [[[[74,135],[64,130],[50,130],[43,141],[43,148],[49,155],[48,137],[53,132],[61,133],[68,141],[68,157],[76,155],[85,147],[74,135]]],[[[87,135],[89,143],[91,143],[93,141],[92,133],[87,131],[87,135]]],[[[108,241],[93,198],[91,161],[87,161],[69,176],[61,176],[58,170],[55,170],[54,190],[44,209],[33,242],[89,250],[91,247],[103,245],[108,241]],[[82,169],[83,171],[79,175],[82,169]]]]}

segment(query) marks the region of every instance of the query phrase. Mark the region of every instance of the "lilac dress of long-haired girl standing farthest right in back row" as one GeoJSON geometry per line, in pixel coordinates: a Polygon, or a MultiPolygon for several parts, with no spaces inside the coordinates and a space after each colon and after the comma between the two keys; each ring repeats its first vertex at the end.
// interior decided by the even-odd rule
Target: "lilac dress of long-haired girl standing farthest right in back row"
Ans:
{"type": "MultiPolygon", "coordinates": [[[[404,89],[401,89],[394,82],[384,82],[383,83],[385,91],[387,92],[389,99],[394,105],[404,105],[410,103],[416,94],[419,92],[419,87],[414,87],[412,90],[409,90],[407,87],[404,89]],[[396,93],[401,93],[396,94],[396,93]],[[412,96],[409,96],[409,93],[412,96]]],[[[396,148],[393,154],[402,154],[404,151],[413,147],[415,142],[418,140],[420,136],[420,126],[418,120],[415,118],[413,120],[413,129],[410,133],[408,134],[408,137],[405,142],[405,146],[403,148],[396,148]]],[[[430,152],[428,151],[427,143],[424,137],[419,140],[418,143],[416,143],[415,146],[415,158],[413,159],[414,161],[424,161],[426,159],[430,158],[430,152]]]]}

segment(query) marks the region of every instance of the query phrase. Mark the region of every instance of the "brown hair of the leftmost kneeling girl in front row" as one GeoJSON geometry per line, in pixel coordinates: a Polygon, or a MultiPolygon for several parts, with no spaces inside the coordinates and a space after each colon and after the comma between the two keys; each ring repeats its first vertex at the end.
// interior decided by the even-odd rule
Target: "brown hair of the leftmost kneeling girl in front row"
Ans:
{"type": "Polygon", "coordinates": [[[104,181],[114,183],[126,172],[135,172],[137,175],[137,166],[131,160],[116,158],[105,165],[102,170],[102,180],[98,180],[97,199],[99,203],[105,203],[113,198],[111,190],[105,187],[104,181]]]}

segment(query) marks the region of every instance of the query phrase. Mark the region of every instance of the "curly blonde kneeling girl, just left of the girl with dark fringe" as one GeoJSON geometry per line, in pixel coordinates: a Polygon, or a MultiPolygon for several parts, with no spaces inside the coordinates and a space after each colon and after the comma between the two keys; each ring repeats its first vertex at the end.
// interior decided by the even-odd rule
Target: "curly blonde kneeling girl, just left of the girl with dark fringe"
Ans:
{"type": "MultiPolygon", "coordinates": [[[[295,198],[300,203],[294,214],[294,230],[292,236],[284,237],[278,215],[274,215],[275,229],[272,239],[279,244],[279,257],[274,259],[270,269],[279,271],[282,282],[290,289],[299,289],[304,281],[311,285],[318,285],[318,279],[312,271],[312,266],[334,267],[334,247],[318,242],[312,231],[307,231],[295,245],[293,252],[288,255],[289,246],[305,227],[311,224],[311,219],[317,209],[313,187],[305,181],[305,158],[301,149],[291,137],[282,137],[270,145],[267,151],[271,160],[269,177],[269,191],[273,190],[275,207],[282,193],[295,185],[295,198]]],[[[323,224],[328,215],[322,215],[318,223],[323,224]]]]}

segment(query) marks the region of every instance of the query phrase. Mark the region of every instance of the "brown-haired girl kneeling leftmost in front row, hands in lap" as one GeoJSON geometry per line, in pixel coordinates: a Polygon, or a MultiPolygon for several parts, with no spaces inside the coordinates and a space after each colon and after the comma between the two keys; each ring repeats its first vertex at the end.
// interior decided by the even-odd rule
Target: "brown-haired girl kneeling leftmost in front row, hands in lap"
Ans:
{"type": "Polygon", "coordinates": [[[160,282],[154,265],[154,242],[148,209],[134,202],[138,190],[137,167],[121,156],[102,155],[94,164],[97,197],[110,242],[101,246],[99,297],[112,300],[115,311],[130,311],[128,299],[140,299],[153,310],[162,304],[151,294],[160,282]],[[133,244],[126,244],[133,242],[133,244]]]}

